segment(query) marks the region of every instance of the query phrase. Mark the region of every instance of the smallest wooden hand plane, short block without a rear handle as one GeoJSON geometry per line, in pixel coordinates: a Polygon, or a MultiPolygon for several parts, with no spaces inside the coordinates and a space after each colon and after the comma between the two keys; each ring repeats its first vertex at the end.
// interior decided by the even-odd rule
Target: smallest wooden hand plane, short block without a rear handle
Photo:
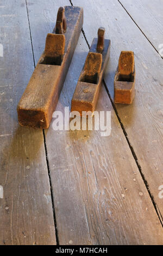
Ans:
{"type": "Polygon", "coordinates": [[[134,52],[122,51],[114,78],[114,102],[131,104],[135,92],[134,52]]]}

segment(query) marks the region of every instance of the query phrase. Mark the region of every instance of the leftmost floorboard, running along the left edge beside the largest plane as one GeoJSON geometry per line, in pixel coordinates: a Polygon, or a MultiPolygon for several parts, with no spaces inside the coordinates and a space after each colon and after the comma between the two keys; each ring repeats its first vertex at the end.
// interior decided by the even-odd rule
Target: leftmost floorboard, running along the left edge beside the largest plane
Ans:
{"type": "Polygon", "coordinates": [[[17,123],[16,105],[34,70],[26,1],[1,1],[0,244],[54,245],[42,131],[17,123]]]}

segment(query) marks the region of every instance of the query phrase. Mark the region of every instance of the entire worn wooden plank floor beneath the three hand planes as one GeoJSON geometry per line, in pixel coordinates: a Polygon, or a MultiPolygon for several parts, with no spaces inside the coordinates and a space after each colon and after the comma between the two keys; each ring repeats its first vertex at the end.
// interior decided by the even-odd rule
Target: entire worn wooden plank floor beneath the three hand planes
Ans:
{"type": "Polygon", "coordinates": [[[1,1],[1,245],[163,244],[162,14],[161,0],[1,1]],[[111,52],[96,110],[111,111],[109,137],[17,123],[46,34],[58,8],[71,4],[84,9],[83,33],[57,110],[71,106],[89,45],[105,27],[111,52]],[[135,53],[132,105],[112,101],[122,50],[135,53]]]}

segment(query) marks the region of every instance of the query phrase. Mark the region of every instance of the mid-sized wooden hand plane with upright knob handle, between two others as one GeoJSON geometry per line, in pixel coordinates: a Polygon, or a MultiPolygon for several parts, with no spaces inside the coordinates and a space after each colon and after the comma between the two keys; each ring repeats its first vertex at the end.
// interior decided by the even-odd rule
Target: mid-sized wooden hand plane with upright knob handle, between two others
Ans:
{"type": "Polygon", "coordinates": [[[71,111],[78,111],[80,115],[84,115],[85,111],[91,111],[92,114],[95,111],[104,69],[110,54],[110,40],[104,39],[104,32],[105,29],[100,27],[98,38],[93,39],[72,97],[71,111]]]}

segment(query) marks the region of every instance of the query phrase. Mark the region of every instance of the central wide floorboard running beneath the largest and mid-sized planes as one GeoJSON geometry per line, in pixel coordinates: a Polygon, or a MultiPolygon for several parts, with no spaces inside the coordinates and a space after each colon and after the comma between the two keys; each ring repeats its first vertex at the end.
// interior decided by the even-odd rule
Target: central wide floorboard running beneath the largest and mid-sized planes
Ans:
{"type": "MultiPolygon", "coordinates": [[[[53,24],[54,11],[66,4],[66,0],[28,4],[36,60],[53,24]],[[40,22],[43,33],[37,38],[40,22]]],[[[83,1],[78,4],[83,5],[83,1]]],[[[85,15],[85,24],[88,21],[85,15]]],[[[91,41],[97,28],[96,22],[91,23],[92,31],[96,31],[90,32],[94,33],[91,41]]],[[[88,50],[80,35],[56,110],[64,112],[65,106],[71,106],[88,50]]],[[[161,224],[104,87],[97,109],[111,111],[109,137],[101,137],[99,131],[54,131],[52,125],[46,131],[59,243],[161,244],[161,224]]]]}

